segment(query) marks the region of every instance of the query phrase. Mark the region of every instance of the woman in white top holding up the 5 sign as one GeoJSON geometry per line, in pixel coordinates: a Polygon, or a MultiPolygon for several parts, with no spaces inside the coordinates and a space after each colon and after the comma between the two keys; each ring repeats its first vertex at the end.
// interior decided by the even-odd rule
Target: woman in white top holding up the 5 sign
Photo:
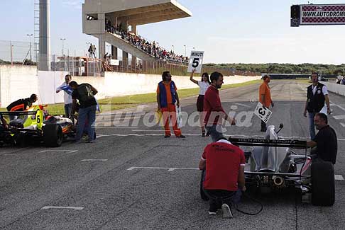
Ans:
{"type": "Polygon", "coordinates": [[[207,88],[211,85],[209,81],[209,74],[202,74],[201,81],[196,81],[193,79],[195,69],[193,69],[192,74],[190,75],[190,81],[199,86],[199,96],[197,97],[197,111],[199,112],[199,122],[202,129],[202,137],[205,137],[205,126],[204,126],[204,96],[207,91],[207,88]]]}

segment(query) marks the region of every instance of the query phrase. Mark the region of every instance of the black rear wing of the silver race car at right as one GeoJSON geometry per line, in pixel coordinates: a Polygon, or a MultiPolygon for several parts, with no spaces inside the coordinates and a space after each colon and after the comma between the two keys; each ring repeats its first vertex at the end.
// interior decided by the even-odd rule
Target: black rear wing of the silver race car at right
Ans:
{"type": "Polygon", "coordinates": [[[273,147],[290,147],[295,149],[307,149],[307,141],[295,139],[255,139],[255,138],[231,138],[229,142],[238,146],[273,146],[273,147]]]}

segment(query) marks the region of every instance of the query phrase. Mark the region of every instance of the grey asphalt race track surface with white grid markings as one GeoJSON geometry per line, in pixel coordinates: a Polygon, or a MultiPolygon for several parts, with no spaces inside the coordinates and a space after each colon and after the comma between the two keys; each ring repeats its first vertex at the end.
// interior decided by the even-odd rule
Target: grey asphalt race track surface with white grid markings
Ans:
{"type": "MultiPolygon", "coordinates": [[[[269,124],[284,123],[283,137],[307,138],[308,122],[302,116],[307,84],[270,85],[275,107],[269,124]]],[[[256,107],[258,84],[224,90],[220,96],[227,112],[242,116],[256,107]]],[[[331,93],[330,99],[329,123],[339,139],[334,170],[345,176],[344,97],[331,93]]],[[[192,114],[195,101],[183,99],[182,111],[192,114]]],[[[234,219],[209,216],[195,168],[211,139],[190,125],[182,128],[186,139],[164,139],[162,127],[143,125],[143,115],[153,110],[155,104],[99,115],[94,144],[1,148],[0,229],[344,229],[344,180],[336,180],[333,207],[301,203],[300,195],[287,191],[257,195],[264,208],[256,216],[236,211],[234,219]]],[[[256,117],[226,127],[225,134],[263,135],[256,117]]],[[[258,208],[246,199],[241,205],[248,212],[258,208]]]]}

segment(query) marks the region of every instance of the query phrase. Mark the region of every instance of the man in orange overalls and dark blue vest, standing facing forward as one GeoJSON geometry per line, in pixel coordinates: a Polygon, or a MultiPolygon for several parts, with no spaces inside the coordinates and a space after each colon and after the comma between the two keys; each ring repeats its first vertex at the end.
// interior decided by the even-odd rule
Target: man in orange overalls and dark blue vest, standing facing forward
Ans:
{"type": "Polygon", "coordinates": [[[177,127],[175,103],[177,107],[180,107],[180,100],[178,98],[177,88],[174,81],[171,80],[171,74],[169,71],[163,72],[162,80],[163,81],[160,81],[157,86],[157,103],[158,110],[163,113],[162,117],[165,130],[164,138],[168,138],[171,136],[169,120],[172,123],[171,125],[174,130],[175,136],[177,138],[185,138],[185,136],[182,135],[181,130],[177,127]]]}

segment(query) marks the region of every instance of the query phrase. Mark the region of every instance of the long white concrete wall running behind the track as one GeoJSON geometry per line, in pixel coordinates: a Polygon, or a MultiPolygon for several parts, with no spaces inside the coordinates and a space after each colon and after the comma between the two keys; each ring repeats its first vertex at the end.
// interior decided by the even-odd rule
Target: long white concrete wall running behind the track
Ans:
{"type": "MultiPolygon", "coordinates": [[[[4,108],[19,98],[28,98],[32,93],[38,94],[38,103],[63,103],[63,93],[55,89],[65,81],[67,72],[38,71],[30,66],[0,66],[0,103],[4,108]]],[[[195,78],[195,79],[199,79],[195,78]]],[[[224,84],[236,84],[261,79],[261,76],[224,76],[224,84]]],[[[125,74],[106,72],[105,76],[72,76],[78,84],[89,83],[97,88],[97,98],[127,96],[141,93],[155,93],[160,75],[125,74]]],[[[178,89],[196,88],[189,76],[172,76],[178,89]]],[[[344,86],[345,88],[345,86],[344,86]]]]}

